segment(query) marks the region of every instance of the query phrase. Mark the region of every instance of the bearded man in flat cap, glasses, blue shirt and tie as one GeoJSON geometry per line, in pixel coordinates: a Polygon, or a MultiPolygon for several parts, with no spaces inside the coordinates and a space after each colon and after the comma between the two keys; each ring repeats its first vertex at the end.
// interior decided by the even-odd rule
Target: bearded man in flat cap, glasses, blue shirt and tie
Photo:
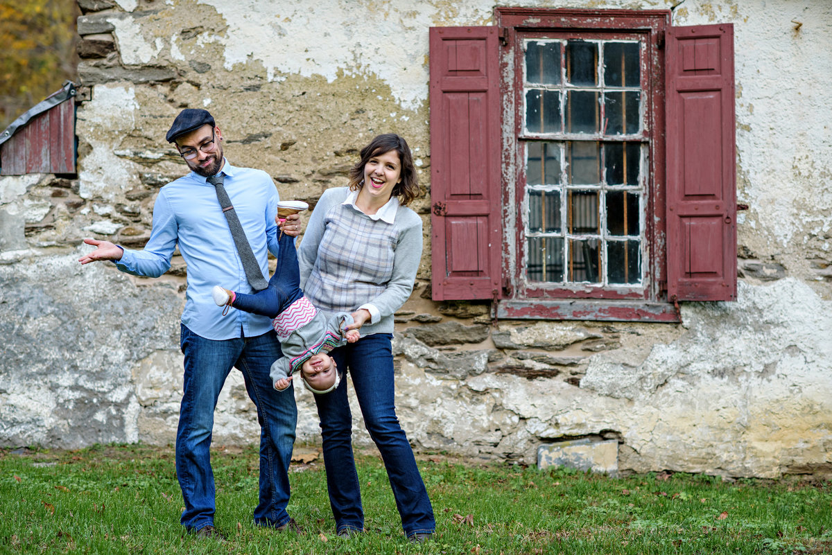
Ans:
{"type": "MultiPolygon", "coordinates": [[[[144,250],[84,239],[96,249],[79,262],[112,260],[122,272],[156,278],[171,267],[178,243],[187,263],[186,305],[181,318],[185,379],[176,432],[176,477],[185,499],[181,523],[197,536],[222,538],[214,528],[215,487],[209,448],[216,400],[231,368],[236,367],[243,374],[260,422],[260,503],[254,521],[280,531],[296,529],[286,513],[287,472],[297,423],[295,395],[276,391],[269,376],[271,364],[281,356],[280,343],[269,318],[237,310],[223,316],[211,297],[215,283],[253,292],[250,280],[256,283],[257,276],[252,272],[259,271],[261,279],[269,275],[267,249],[280,256],[275,233],[277,190],[265,172],[238,168],[225,160],[222,132],[208,111],[181,111],[166,139],[174,143],[191,173],[159,191],[151,237],[144,250]],[[239,223],[234,224],[228,212],[236,214],[239,223]],[[240,236],[250,246],[240,245],[240,236]]],[[[297,236],[300,216],[289,220],[285,233],[297,236]]]]}

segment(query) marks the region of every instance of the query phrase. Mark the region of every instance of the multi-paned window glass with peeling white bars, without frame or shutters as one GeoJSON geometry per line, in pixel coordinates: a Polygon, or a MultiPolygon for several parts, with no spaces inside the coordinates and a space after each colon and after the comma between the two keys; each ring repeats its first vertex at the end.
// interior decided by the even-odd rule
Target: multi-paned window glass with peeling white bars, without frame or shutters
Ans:
{"type": "Polygon", "coordinates": [[[527,287],[641,286],[641,43],[555,33],[520,41],[522,278],[527,287]]]}

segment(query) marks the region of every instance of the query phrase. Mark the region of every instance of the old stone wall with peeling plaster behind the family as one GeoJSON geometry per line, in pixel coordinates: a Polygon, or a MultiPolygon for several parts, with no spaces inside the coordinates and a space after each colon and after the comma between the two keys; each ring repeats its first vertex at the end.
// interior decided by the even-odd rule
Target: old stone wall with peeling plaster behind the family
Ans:
{"type": "MultiPolygon", "coordinates": [[[[77,179],[0,179],[0,445],[166,444],[184,263],[159,279],[81,267],[82,238],[146,242],[156,191],[185,171],[164,141],[184,107],[212,111],[230,160],[268,171],[284,199],[314,205],[343,186],[387,131],[409,140],[427,191],[428,27],[493,24],[493,3],[79,4],[77,179]]],[[[683,303],[679,325],[494,325],[488,303],[430,300],[426,192],[423,262],[394,338],[416,449],[532,464],[542,444],[588,438],[617,440],[622,471],[832,472],[832,6],[559,2],[676,4],[675,25],[735,25],[739,300],[683,303]]],[[[297,398],[299,439],[319,441],[310,395],[297,398]]],[[[232,373],[215,441],[257,437],[232,373]]],[[[370,444],[360,423],[355,440],[370,444]]]]}

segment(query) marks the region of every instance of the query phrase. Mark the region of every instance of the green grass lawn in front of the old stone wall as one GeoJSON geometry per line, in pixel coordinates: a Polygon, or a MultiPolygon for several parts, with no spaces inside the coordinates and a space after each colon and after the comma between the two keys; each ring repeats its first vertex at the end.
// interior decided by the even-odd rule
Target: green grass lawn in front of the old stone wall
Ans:
{"type": "Polygon", "coordinates": [[[319,459],[293,463],[295,534],[251,523],[255,449],[212,457],[225,543],[183,533],[170,447],[0,449],[0,553],[832,553],[825,481],[613,479],[428,455],[419,466],[437,533],[410,545],[378,456],[359,456],[367,533],[349,539],[335,536],[319,459]]]}

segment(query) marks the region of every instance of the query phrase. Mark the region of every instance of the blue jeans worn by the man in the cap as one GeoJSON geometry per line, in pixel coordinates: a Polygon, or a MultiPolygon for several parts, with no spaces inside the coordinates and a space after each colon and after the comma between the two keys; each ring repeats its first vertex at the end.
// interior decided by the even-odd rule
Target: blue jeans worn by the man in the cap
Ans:
{"type": "Polygon", "coordinates": [[[276,391],[269,376],[272,362],[281,356],[275,333],[213,341],[182,326],[181,349],[185,383],[176,432],[176,477],[185,499],[181,523],[188,530],[214,524],[211,432],[217,397],[234,366],[243,373],[260,422],[260,504],[255,508],[255,523],[280,526],[289,522],[286,473],[298,412],[293,388],[276,391]]]}

